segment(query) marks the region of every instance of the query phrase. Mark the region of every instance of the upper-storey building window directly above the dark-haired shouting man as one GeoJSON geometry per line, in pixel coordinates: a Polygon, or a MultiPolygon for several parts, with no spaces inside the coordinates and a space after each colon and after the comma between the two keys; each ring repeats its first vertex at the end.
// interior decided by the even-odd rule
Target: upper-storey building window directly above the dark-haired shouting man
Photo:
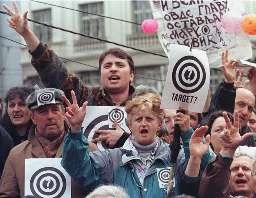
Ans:
{"type": "MultiPolygon", "coordinates": [[[[93,14],[103,15],[103,2],[81,5],[80,10],[93,14]]],[[[81,33],[95,37],[104,37],[104,17],[88,13],[81,14],[81,33]]]]}

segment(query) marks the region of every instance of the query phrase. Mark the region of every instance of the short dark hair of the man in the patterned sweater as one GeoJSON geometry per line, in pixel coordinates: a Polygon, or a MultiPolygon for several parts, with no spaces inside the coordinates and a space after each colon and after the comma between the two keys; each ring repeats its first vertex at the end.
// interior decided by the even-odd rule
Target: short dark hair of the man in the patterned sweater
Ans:
{"type": "Polygon", "coordinates": [[[113,54],[116,57],[121,59],[127,59],[128,64],[130,66],[130,74],[132,73],[132,71],[134,71],[134,61],[132,60],[131,55],[127,51],[124,51],[119,47],[114,47],[114,48],[105,50],[104,52],[101,53],[101,56],[99,57],[99,74],[100,75],[101,75],[101,64],[105,56],[107,56],[108,54],[113,54]]]}

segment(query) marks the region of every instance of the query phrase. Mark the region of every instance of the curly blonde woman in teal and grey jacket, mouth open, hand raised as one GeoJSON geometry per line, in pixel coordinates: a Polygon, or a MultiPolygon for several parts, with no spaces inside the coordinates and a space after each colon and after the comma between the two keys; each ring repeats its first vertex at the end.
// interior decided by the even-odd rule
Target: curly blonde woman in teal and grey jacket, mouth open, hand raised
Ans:
{"type": "MultiPolygon", "coordinates": [[[[132,135],[122,148],[101,152],[89,152],[88,140],[83,136],[81,127],[87,102],[81,110],[73,91],[72,105],[64,95],[62,97],[68,105],[66,117],[70,127],[63,143],[61,164],[78,185],[91,191],[99,184],[113,183],[127,189],[130,197],[168,197],[171,151],[169,145],[157,137],[165,113],[160,109],[161,100],[156,95],[138,96],[126,103],[132,135]]],[[[193,133],[192,128],[187,131],[188,136],[189,131],[193,133]]],[[[209,153],[205,156],[209,158],[209,153]]],[[[176,166],[182,170],[184,164],[185,161],[177,162],[176,166]]],[[[181,172],[175,171],[174,180],[170,197],[177,193],[175,189],[181,181],[181,172]]]]}

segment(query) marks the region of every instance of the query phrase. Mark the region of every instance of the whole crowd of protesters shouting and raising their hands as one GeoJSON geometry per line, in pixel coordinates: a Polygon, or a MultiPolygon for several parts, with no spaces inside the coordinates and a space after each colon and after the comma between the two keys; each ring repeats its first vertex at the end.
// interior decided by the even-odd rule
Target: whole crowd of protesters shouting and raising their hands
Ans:
{"type": "Polygon", "coordinates": [[[131,85],[135,66],[126,51],[105,50],[99,58],[103,87],[87,86],[33,34],[27,12],[22,16],[15,1],[13,6],[3,5],[9,26],[24,38],[46,88],[13,87],[5,104],[0,100],[0,198],[25,196],[29,158],[62,158],[72,198],[256,198],[255,67],[242,84],[239,61],[229,60],[226,50],[220,63],[225,80],[212,98],[209,90],[203,112],[160,109],[154,87],[131,85]],[[39,100],[45,93],[52,93],[50,102],[39,100]],[[124,106],[131,132],[115,120],[115,130],[95,130],[104,135],[88,141],[82,129],[86,106],[124,106]],[[173,150],[175,125],[180,136],[173,150]],[[111,148],[99,151],[98,141],[111,148]],[[159,179],[166,169],[168,186],[159,179]]]}

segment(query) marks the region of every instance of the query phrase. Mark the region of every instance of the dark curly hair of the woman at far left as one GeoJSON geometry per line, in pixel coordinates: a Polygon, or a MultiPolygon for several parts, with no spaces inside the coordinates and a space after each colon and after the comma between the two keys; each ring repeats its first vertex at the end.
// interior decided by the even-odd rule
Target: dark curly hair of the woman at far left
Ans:
{"type": "MultiPolygon", "coordinates": [[[[36,89],[30,85],[23,85],[19,87],[13,87],[10,88],[10,90],[7,92],[4,102],[6,103],[5,106],[5,112],[3,117],[0,120],[0,125],[10,134],[10,136],[13,139],[14,146],[18,145],[19,142],[19,135],[17,133],[16,127],[13,125],[12,121],[10,120],[10,117],[8,115],[7,109],[8,109],[8,102],[12,101],[16,96],[19,96],[21,100],[26,100],[26,98],[36,89]]],[[[29,130],[31,126],[33,125],[32,120],[30,119],[29,125],[27,127],[27,132],[26,132],[26,139],[28,138],[29,135],[29,130]]]]}

